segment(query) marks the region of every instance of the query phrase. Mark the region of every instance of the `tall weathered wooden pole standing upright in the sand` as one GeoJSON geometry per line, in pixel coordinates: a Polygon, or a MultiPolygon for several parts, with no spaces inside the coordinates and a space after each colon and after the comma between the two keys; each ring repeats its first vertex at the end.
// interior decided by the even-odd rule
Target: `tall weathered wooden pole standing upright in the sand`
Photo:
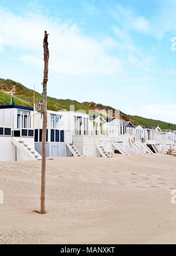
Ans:
{"type": "Polygon", "coordinates": [[[47,129],[47,82],[48,82],[48,33],[45,31],[43,39],[43,55],[44,55],[44,73],[43,73],[43,105],[45,110],[43,112],[43,129],[42,129],[42,182],[41,182],[41,205],[40,213],[45,214],[45,187],[46,187],[46,129],[47,129]]]}

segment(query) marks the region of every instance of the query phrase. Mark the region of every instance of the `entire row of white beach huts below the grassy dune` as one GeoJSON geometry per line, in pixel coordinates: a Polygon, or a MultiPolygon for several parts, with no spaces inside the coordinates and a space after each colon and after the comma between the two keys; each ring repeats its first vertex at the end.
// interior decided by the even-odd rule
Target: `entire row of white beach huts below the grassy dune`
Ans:
{"type": "MultiPolygon", "coordinates": [[[[31,107],[0,106],[0,161],[40,160],[42,116],[31,107]]],[[[113,157],[176,150],[176,131],[83,112],[48,110],[47,157],[113,157]]]]}

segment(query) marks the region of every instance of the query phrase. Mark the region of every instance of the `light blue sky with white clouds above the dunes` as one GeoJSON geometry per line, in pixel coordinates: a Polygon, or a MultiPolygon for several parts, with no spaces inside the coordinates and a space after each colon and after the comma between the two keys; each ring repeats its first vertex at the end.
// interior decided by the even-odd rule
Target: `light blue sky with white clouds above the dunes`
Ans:
{"type": "Polygon", "coordinates": [[[0,0],[0,77],[176,123],[175,0],[0,0]],[[172,42],[171,42],[172,40],[172,42]]]}

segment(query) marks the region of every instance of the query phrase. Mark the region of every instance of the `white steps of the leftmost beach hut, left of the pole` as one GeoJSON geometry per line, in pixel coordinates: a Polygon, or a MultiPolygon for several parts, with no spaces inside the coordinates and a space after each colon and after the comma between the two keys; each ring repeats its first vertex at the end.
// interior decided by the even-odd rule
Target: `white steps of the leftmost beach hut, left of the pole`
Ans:
{"type": "Polygon", "coordinates": [[[29,159],[29,160],[41,160],[42,157],[40,154],[33,149],[26,141],[25,139],[17,139],[16,137],[12,137],[12,143],[22,151],[23,154],[29,159]]]}

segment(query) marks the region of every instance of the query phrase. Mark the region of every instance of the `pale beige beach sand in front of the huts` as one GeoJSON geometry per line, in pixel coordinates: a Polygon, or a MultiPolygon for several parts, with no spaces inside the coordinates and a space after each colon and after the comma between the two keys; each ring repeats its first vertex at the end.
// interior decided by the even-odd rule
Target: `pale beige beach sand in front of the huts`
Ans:
{"type": "Polygon", "coordinates": [[[46,215],[40,164],[0,163],[0,244],[176,243],[176,155],[47,160],[46,215]]]}

